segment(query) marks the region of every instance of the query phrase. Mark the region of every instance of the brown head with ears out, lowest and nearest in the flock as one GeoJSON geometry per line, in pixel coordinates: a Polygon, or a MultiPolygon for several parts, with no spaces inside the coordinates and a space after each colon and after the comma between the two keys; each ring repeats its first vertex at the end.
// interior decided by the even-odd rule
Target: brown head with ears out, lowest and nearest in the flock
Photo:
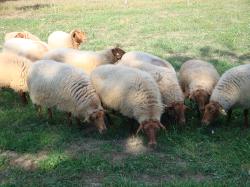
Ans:
{"type": "Polygon", "coordinates": [[[165,127],[159,121],[156,120],[144,121],[140,124],[136,134],[138,134],[141,130],[143,130],[149,139],[148,146],[154,147],[157,144],[156,132],[160,128],[165,129],[165,127]]]}

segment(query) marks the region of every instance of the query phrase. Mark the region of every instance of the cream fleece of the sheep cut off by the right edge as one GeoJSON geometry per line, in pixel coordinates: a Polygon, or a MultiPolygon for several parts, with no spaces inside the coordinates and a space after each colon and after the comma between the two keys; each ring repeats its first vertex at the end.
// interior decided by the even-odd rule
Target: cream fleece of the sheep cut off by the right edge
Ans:
{"type": "Polygon", "coordinates": [[[250,64],[227,70],[215,86],[210,101],[218,102],[226,111],[250,108],[250,64]]]}

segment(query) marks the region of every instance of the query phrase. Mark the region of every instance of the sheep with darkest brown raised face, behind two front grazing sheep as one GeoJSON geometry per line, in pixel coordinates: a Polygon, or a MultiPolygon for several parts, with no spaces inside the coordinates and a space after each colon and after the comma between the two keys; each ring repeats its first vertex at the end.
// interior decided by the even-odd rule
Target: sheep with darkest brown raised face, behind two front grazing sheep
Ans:
{"type": "Polygon", "coordinates": [[[71,64],[81,68],[88,75],[97,67],[104,64],[115,63],[121,59],[125,52],[120,48],[103,51],[79,51],[76,49],[54,49],[48,52],[43,59],[51,59],[71,64]]]}

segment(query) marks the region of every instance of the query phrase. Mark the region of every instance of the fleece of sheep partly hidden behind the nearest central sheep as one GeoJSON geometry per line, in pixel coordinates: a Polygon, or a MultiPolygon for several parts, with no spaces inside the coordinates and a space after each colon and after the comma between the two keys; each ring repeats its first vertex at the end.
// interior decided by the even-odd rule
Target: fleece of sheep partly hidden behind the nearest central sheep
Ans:
{"type": "Polygon", "coordinates": [[[123,57],[118,64],[149,73],[158,84],[164,105],[170,106],[174,102],[184,102],[184,96],[176,72],[172,68],[151,65],[142,60],[123,59],[123,57]]]}

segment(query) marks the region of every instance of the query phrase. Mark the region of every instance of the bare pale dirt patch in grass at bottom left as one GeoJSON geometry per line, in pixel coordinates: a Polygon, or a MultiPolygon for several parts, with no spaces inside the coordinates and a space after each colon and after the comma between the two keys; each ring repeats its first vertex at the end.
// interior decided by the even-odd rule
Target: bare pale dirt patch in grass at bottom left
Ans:
{"type": "Polygon", "coordinates": [[[9,164],[18,166],[25,170],[35,170],[39,161],[47,158],[47,152],[41,151],[37,154],[20,154],[14,151],[1,151],[0,156],[7,157],[9,164]]]}

